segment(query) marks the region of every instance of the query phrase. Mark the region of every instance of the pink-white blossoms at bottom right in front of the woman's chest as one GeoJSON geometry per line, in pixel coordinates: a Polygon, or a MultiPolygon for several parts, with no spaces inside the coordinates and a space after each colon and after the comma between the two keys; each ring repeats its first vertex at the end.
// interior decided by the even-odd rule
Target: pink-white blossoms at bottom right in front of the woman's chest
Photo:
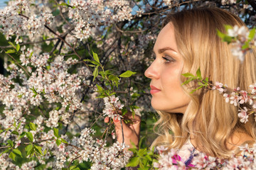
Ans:
{"type": "Polygon", "coordinates": [[[159,151],[159,161],[154,163],[154,167],[159,170],[170,169],[255,169],[256,168],[256,144],[252,147],[244,145],[240,147],[240,154],[233,154],[230,159],[219,159],[210,157],[203,152],[191,155],[191,163],[183,162],[178,156],[178,149],[171,149],[169,152],[164,147],[157,147],[159,151]]]}

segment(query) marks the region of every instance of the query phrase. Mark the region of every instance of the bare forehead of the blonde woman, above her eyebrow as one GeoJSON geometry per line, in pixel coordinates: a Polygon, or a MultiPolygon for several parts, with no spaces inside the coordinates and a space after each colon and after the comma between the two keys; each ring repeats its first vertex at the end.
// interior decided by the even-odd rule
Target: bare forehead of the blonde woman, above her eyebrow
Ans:
{"type": "Polygon", "coordinates": [[[178,51],[175,33],[174,33],[174,25],[172,23],[168,23],[164,28],[160,31],[157,36],[156,43],[154,45],[154,51],[157,52],[159,49],[170,47],[176,52],[178,51]]]}

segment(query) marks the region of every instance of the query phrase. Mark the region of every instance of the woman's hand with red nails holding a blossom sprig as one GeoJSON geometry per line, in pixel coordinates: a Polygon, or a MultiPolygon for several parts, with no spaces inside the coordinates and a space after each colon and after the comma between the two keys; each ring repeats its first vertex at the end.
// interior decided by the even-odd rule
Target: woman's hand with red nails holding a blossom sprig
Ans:
{"type": "MultiPolygon", "coordinates": [[[[137,147],[139,145],[139,131],[140,131],[140,123],[141,118],[139,115],[132,116],[131,112],[128,112],[124,115],[124,120],[117,120],[113,119],[114,122],[114,129],[117,134],[117,141],[122,144],[123,138],[122,138],[122,128],[124,132],[124,143],[125,145],[129,145],[129,148],[132,147],[133,142],[137,147]],[[131,123],[124,123],[124,120],[131,120],[131,123]],[[122,121],[122,125],[121,125],[122,121]]],[[[110,118],[105,118],[105,123],[108,123],[110,121],[110,118]]]]}

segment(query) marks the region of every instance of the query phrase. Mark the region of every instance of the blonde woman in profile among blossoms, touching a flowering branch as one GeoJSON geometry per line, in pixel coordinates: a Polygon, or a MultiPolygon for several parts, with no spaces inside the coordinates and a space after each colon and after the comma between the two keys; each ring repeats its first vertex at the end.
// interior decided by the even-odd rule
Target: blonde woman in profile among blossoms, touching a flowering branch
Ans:
{"type": "MultiPolygon", "coordinates": [[[[156,123],[159,137],[152,146],[179,149],[184,161],[191,154],[186,152],[187,145],[213,157],[228,158],[238,146],[256,140],[253,114],[247,123],[241,123],[238,107],[225,103],[218,91],[199,89],[191,94],[196,81],[181,85],[186,81],[181,74],[196,74],[198,68],[203,78],[230,89],[239,86],[248,91],[255,83],[256,52],[248,52],[242,63],[234,57],[232,46],[217,35],[217,29],[225,32],[225,25],[245,26],[238,16],[220,8],[183,10],[167,16],[154,45],[156,58],[145,72],[151,79],[151,105],[160,115],[156,123]]],[[[122,122],[127,145],[130,141],[138,144],[139,118],[134,122],[129,126],[122,122]]],[[[114,123],[117,140],[122,142],[121,123],[114,123]]]]}

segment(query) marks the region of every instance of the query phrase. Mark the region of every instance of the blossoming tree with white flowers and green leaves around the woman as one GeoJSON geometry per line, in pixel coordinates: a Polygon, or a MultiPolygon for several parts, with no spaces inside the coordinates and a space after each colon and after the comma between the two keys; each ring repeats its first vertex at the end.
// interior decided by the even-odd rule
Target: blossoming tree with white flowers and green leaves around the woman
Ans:
{"type": "MultiPolygon", "coordinates": [[[[154,59],[151,49],[166,13],[218,6],[251,27],[255,5],[249,0],[9,1],[0,9],[0,169],[124,168],[131,155],[124,143],[115,142],[112,120],[103,120],[140,114],[141,135],[149,137],[156,115],[143,73],[154,59]]],[[[245,32],[238,29],[230,30],[230,37],[245,32]]],[[[240,46],[233,53],[242,59],[246,50],[240,46]]],[[[215,89],[223,89],[218,85],[215,89]]],[[[239,113],[244,122],[245,112],[239,113]]],[[[139,157],[127,166],[151,167],[154,153],[133,152],[139,157]]]]}

